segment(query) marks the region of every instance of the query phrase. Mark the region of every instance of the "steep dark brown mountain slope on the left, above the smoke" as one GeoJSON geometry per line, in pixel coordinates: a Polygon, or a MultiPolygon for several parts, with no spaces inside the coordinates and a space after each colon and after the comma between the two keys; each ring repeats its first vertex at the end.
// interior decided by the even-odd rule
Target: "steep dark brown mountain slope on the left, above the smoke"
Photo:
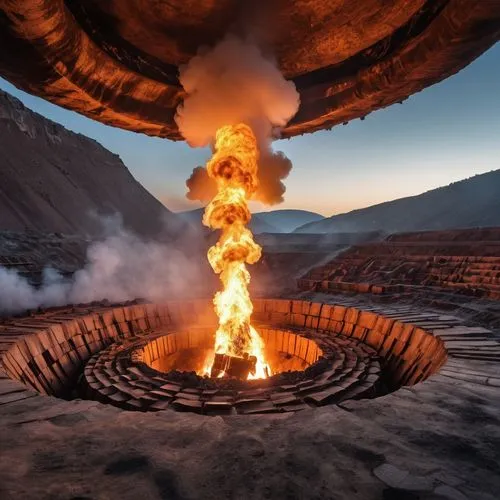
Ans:
{"type": "Polygon", "coordinates": [[[118,155],[0,90],[0,230],[92,235],[115,213],[142,235],[181,225],[118,155]]]}

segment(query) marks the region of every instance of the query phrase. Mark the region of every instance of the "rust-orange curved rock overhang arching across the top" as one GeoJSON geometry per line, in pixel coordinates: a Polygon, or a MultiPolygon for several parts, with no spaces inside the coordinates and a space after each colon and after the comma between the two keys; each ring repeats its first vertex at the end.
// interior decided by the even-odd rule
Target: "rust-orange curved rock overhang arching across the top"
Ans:
{"type": "Polygon", "coordinates": [[[283,131],[292,137],[401,102],[500,39],[500,0],[265,4],[0,0],[0,74],[105,124],[181,140],[178,66],[253,16],[253,34],[301,95],[283,131]]]}

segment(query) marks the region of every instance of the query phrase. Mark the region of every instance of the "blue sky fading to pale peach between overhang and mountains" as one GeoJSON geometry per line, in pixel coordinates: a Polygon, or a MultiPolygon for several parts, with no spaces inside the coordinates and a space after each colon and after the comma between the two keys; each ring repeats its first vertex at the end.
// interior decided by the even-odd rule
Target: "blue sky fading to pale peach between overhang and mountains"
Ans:
{"type": "MultiPolygon", "coordinates": [[[[195,166],[205,163],[208,150],[102,125],[2,79],[0,88],[119,154],[135,178],[171,210],[199,206],[185,199],[185,181],[195,166]]],[[[500,44],[402,105],[274,146],[294,168],[285,181],[285,202],[273,208],[328,216],[499,169],[500,44]]]]}

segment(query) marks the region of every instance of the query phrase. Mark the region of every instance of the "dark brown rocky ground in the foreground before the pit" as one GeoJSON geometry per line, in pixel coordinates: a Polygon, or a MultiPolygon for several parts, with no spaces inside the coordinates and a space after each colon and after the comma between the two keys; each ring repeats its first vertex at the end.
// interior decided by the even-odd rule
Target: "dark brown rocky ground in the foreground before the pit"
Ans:
{"type": "Polygon", "coordinates": [[[6,500],[494,500],[500,488],[499,391],[442,375],[293,415],[131,413],[33,394],[0,418],[6,500]]]}

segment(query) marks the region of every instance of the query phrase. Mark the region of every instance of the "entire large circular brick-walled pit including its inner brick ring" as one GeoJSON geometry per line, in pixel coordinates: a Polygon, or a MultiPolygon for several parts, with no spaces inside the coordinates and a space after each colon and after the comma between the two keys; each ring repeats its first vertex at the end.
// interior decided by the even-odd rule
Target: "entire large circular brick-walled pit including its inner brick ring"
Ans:
{"type": "Polygon", "coordinates": [[[12,378],[45,394],[65,397],[77,386],[80,396],[126,410],[212,415],[375,397],[425,380],[447,356],[443,342],[422,328],[344,306],[258,299],[253,323],[273,370],[265,380],[193,373],[213,346],[209,301],[33,320],[31,333],[4,352],[2,362],[12,378]]]}

